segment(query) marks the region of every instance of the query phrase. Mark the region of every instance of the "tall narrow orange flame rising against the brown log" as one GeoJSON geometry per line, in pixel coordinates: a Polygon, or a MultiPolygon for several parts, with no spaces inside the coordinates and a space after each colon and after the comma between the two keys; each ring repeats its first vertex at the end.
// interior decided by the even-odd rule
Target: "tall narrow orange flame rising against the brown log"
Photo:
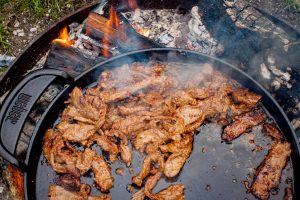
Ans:
{"type": "MultiPolygon", "coordinates": [[[[120,25],[120,20],[118,18],[117,12],[116,10],[111,6],[109,8],[109,20],[106,22],[105,26],[106,28],[108,28],[107,30],[109,30],[110,28],[115,28],[118,29],[120,25]]],[[[105,58],[109,57],[109,33],[108,31],[106,31],[104,33],[104,37],[103,37],[103,51],[102,54],[105,58]]]]}

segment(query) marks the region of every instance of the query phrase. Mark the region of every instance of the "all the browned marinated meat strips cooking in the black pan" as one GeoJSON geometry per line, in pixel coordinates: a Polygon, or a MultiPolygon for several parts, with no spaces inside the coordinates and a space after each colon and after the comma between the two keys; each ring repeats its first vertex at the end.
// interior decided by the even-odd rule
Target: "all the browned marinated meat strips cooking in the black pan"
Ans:
{"type": "MultiPolygon", "coordinates": [[[[131,146],[146,155],[141,171],[132,177],[141,187],[132,199],[184,199],[180,184],[157,194],[152,190],[162,176],[180,173],[192,152],[195,130],[205,120],[224,126],[222,139],[229,142],[266,119],[258,109],[260,95],[240,88],[210,64],[191,68],[193,73],[173,63],[149,65],[123,65],[102,72],[96,87],[85,92],[74,88],[61,122],[44,138],[43,154],[60,174],[56,184],[63,187],[51,186],[49,197],[58,198],[59,193],[62,199],[102,198],[90,196],[91,188],[80,183],[90,169],[96,187],[109,192],[114,179],[105,159],[92,150],[96,143],[111,163],[120,158],[130,166],[131,146]]],[[[265,124],[264,131],[275,144],[251,186],[259,198],[277,186],[290,148],[276,126],[265,124]]]]}

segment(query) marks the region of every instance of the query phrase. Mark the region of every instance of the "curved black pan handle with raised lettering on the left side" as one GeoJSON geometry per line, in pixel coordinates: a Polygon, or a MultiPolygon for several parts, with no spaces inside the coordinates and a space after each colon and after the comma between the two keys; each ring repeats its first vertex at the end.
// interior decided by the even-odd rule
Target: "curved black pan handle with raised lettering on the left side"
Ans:
{"type": "Polygon", "coordinates": [[[65,72],[42,69],[28,74],[5,99],[0,111],[0,154],[11,164],[26,171],[27,165],[15,156],[18,141],[31,109],[55,80],[71,84],[65,72]]]}

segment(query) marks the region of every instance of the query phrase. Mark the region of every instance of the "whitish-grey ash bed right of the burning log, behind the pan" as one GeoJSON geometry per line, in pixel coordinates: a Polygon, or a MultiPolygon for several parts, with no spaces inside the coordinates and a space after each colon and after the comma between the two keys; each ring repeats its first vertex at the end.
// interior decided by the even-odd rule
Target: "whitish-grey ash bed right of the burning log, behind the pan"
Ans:
{"type": "Polygon", "coordinates": [[[223,51],[201,20],[198,7],[187,14],[174,9],[140,10],[123,14],[142,35],[167,47],[190,49],[210,55],[223,51]]]}

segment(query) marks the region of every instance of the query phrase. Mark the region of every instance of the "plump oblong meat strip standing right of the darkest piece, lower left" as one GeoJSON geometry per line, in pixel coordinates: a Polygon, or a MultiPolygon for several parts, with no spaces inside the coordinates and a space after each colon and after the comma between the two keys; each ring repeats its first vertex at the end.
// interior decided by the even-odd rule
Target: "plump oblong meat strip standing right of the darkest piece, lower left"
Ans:
{"type": "Polygon", "coordinates": [[[102,156],[95,156],[92,162],[94,181],[101,192],[107,192],[114,185],[111,169],[102,156]]]}

